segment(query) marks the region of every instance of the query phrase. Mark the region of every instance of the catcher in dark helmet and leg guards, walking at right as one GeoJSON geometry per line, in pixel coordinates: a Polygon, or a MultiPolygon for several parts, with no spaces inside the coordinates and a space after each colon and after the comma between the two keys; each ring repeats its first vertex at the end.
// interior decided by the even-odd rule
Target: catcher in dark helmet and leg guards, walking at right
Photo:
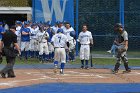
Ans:
{"type": "MultiPolygon", "coordinates": [[[[116,64],[114,67],[113,73],[117,73],[119,70],[119,67],[121,65],[121,60],[124,62],[124,67],[126,71],[123,71],[124,73],[131,72],[131,69],[128,66],[128,58],[126,56],[126,52],[128,49],[128,33],[123,28],[122,24],[117,23],[114,26],[114,30],[118,32],[118,47],[117,47],[117,56],[116,56],[116,64]]],[[[114,41],[115,42],[115,41],[114,41]]]]}

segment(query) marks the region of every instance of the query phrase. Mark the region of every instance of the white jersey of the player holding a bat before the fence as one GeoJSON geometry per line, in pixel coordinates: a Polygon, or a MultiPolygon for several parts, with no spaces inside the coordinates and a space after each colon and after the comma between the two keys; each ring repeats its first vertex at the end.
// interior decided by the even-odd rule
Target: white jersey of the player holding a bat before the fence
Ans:
{"type": "Polygon", "coordinates": [[[90,44],[91,39],[93,39],[93,38],[92,38],[91,32],[89,32],[89,31],[80,32],[79,37],[78,37],[80,44],[90,44]]]}

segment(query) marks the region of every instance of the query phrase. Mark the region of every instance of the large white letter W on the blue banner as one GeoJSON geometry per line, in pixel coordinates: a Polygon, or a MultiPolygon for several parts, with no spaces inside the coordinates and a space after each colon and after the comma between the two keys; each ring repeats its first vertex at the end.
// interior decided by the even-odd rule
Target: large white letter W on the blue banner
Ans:
{"type": "Polygon", "coordinates": [[[61,9],[60,0],[52,0],[52,5],[50,9],[49,0],[41,0],[45,21],[47,22],[52,20],[53,11],[55,13],[56,20],[63,21],[66,2],[67,0],[63,0],[63,7],[61,9]]]}

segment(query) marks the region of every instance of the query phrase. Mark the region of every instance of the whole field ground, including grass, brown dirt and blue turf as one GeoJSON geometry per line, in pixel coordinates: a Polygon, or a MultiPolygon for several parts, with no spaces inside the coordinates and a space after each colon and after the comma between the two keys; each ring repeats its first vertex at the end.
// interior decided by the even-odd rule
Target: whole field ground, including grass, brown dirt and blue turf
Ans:
{"type": "MultiPolygon", "coordinates": [[[[80,69],[77,57],[74,62],[66,64],[63,75],[59,74],[59,69],[57,73],[53,72],[52,62],[42,64],[33,58],[17,58],[16,78],[0,78],[0,93],[140,93],[139,53],[129,52],[135,57],[129,56],[132,71],[125,74],[123,65],[119,73],[112,74],[115,58],[110,54],[95,53],[93,67],[89,70],[80,69]]],[[[0,69],[4,65],[5,59],[0,69]]]]}

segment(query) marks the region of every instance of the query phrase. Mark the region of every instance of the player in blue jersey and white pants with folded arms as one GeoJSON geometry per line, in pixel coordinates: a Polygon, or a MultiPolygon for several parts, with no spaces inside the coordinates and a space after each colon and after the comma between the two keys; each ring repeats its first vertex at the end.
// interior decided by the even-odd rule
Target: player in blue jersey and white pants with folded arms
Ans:
{"type": "Polygon", "coordinates": [[[28,28],[28,22],[24,22],[24,27],[21,29],[21,57],[25,56],[28,59],[29,56],[29,44],[31,31],[28,28]]]}

